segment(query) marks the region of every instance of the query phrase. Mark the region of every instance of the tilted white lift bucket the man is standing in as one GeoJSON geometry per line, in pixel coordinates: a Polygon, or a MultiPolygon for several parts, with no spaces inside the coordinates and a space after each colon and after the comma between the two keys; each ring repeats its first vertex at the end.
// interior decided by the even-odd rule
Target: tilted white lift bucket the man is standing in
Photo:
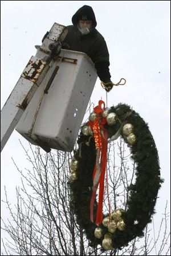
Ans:
{"type": "Polygon", "coordinates": [[[97,74],[91,59],[84,53],[62,50],[60,57],[63,58],[51,65],[16,129],[28,140],[29,137],[34,141],[37,138],[50,148],[72,151],[97,74]],[[58,65],[48,94],[43,95],[48,79],[58,65]]]}

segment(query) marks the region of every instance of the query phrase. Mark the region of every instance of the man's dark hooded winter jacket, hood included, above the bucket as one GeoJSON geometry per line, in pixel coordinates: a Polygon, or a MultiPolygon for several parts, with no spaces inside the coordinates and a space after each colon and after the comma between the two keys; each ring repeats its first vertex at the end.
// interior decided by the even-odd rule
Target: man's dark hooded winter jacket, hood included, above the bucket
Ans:
{"type": "Polygon", "coordinates": [[[82,51],[86,53],[95,63],[97,75],[103,82],[108,82],[111,78],[109,73],[109,53],[103,36],[95,29],[97,23],[92,7],[84,5],[72,17],[74,25],[67,26],[68,34],[64,43],[69,45],[68,50],[82,51]],[[78,21],[82,16],[92,20],[92,29],[90,33],[82,35],[78,30],[78,21]]]}

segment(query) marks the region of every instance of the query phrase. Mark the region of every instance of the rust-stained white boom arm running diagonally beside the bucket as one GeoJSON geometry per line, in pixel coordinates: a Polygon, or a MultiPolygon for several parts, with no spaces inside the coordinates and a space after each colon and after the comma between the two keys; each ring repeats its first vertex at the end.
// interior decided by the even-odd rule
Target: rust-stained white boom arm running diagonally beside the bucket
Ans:
{"type": "Polygon", "coordinates": [[[66,37],[66,27],[54,23],[44,39],[42,46],[36,47],[37,53],[30,58],[25,70],[15,85],[9,98],[1,110],[1,151],[22,117],[36,89],[43,81],[52,58],[60,52],[61,43],[66,37]]]}

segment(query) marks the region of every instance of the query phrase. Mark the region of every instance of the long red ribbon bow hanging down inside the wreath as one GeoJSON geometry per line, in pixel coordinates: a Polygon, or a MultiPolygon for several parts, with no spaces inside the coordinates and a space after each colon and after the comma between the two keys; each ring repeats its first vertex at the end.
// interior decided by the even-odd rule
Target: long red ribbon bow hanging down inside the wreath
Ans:
{"type": "Polygon", "coordinates": [[[104,101],[99,101],[99,105],[96,106],[93,110],[97,114],[95,121],[89,121],[88,125],[91,126],[93,130],[93,137],[95,138],[95,145],[97,149],[96,165],[93,171],[93,192],[90,203],[90,218],[93,222],[93,205],[96,198],[97,187],[99,186],[99,203],[97,206],[96,213],[96,225],[99,226],[103,221],[103,194],[104,194],[104,177],[105,170],[107,166],[107,143],[108,143],[108,133],[104,128],[106,119],[101,115],[103,109],[101,105],[104,105],[104,101]],[[100,133],[101,129],[101,133],[100,133]],[[100,163],[99,163],[100,159],[100,163]]]}

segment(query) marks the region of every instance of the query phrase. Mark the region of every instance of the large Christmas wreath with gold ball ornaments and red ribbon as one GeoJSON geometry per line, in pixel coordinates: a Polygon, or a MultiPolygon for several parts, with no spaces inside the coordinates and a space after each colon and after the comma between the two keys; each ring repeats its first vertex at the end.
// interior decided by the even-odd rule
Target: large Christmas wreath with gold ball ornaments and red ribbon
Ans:
{"type": "Polygon", "coordinates": [[[89,122],[82,127],[79,149],[74,151],[70,163],[71,205],[78,224],[86,232],[89,245],[100,244],[105,250],[112,250],[128,246],[128,242],[136,237],[143,237],[143,230],[154,214],[162,179],[156,145],[143,118],[125,104],[110,109],[102,109],[102,105],[104,102],[99,101],[99,106],[89,116],[89,122]],[[106,216],[102,212],[103,197],[100,195],[104,186],[106,145],[108,139],[119,136],[130,147],[131,158],[136,163],[136,180],[127,188],[127,210],[115,209],[106,216]]]}

